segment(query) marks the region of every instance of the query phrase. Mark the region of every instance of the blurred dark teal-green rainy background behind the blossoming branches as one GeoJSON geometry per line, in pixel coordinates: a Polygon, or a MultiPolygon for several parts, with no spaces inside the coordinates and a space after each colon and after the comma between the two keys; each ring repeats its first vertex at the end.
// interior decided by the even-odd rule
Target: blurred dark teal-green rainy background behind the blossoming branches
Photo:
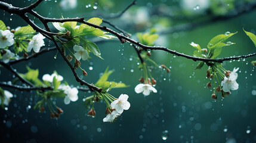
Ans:
{"type": "MultiPolygon", "coordinates": [[[[7,1],[17,7],[24,7],[35,1],[7,1]]],[[[45,17],[109,17],[124,10],[132,1],[85,1],[78,0],[78,5],[72,10],[63,10],[60,0],[44,1],[35,10],[45,17]],[[95,5],[95,2],[97,4],[95,5]],[[91,7],[87,6],[91,4],[91,7]],[[93,6],[97,6],[96,9],[93,6]]],[[[194,23],[218,15],[229,14],[239,5],[255,1],[221,1],[222,5],[209,1],[138,1],[121,18],[108,19],[136,38],[137,32],[145,32],[155,27],[159,32],[178,24],[194,23]],[[207,2],[206,2],[207,3],[207,2]],[[189,5],[189,8],[186,7],[189,5]],[[229,5],[233,8],[228,7],[229,5]],[[184,6],[185,5],[185,6],[184,6]],[[199,8],[193,10],[197,5],[199,8]],[[224,5],[224,6],[223,6],[224,5]],[[228,5],[228,6],[227,6],[228,5]],[[160,12],[159,12],[160,11],[160,12]]],[[[215,1],[217,2],[217,1],[215,1]]],[[[249,3],[250,4],[250,3],[249,3]]],[[[255,52],[255,46],[243,32],[243,28],[255,33],[256,10],[239,15],[229,20],[212,21],[196,29],[185,30],[160,35],[156,45],[167,46],[170,49],[192,55],[190,42],[199,43],[206,48],[214,36],[225,32],[238,33],[229,39],[236,45],[223,48],[219,57],[249,54],[255,52]]],[[[7,26],[16,28],[26,26],[26,23],[16,15],[0,11],[0,19],[7,26]]],[[[42,24],[35,19],[39,26],[42,24]]],[[[106,26],[108,26],[106,24],[106,26]]],[[[51,26],[53,29],[53,26],[51,26]]],[[[53,46],[45,40],[46,46],[53,46]]],[[[35,92],[13,91],[16,96],[11,101],[8,110],[0,110],[0,142],[256,142],[256,84],[255,69],[251,61],[227,61],[224,67],[233,70],[239,67],[238,91],[232,91],[229,97],[211,99],[212,91],[206,88],[206,69],[194,71],[198,63],[182,57],[174,57],[162,51],[153,51],[152,59],[159,65],[165,64],[171,69],[166,73],[162,69],[152,71],[157,80],[157,94],[144,97],[135,94],[134,87],[138,84],[141,71],[138,70],[137,55],[129,43],[119,41],[98,43],[104,60],[92,55],[90,61],[82,62],[82,67],[88,76],[83,77],[89,83],[95,83],[106,69],[115,69],[110,80],[122,81],[129,88],[113,89],[110,94],[119,97],[128,94],[131,107],[124,111],[114,123],[103,123],[105,104],[95,104],[97,116],[88,117],[88,110],[82,99],[92,93],[79,92],[79,100],[64,105],[63,99],[56,99],[64,114],[58,120],[50,119],[50,113],[38,113],[33,107],[38,97],[35,92]],[[90,70],[91,69],[91,70],[90,70]],[[167,130],[166,140],[163,132],[167,130]]],[[[69,84],[78,86],[72,71],[63,61],[60,54],[54,59],[56,51],[51,51],[38,58],[18,63],[14,67],[20,72],[26,72],[26,65],[39,69],[39,77],[54,70],[64,77],[69,84]]],[[[0,69],[1,81],[8,81],[13,74],[0,69]]],[[[78,71],[81,74],[81,72],[78,71]]],[[[81,76],[82,77],[82,76],[81,76]]],[[[166,132],[166,131],[165,131],[166,132]]]]}

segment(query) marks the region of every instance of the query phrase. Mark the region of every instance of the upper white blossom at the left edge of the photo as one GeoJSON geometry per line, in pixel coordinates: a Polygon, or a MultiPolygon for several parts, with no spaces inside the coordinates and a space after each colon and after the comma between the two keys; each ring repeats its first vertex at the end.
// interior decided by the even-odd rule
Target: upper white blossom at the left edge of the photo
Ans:
{"type": "Polygon", "coordinates": [[[0,30],[0,48],[11,46],[14,43],[14,34],[10,30],[0,30]]]}

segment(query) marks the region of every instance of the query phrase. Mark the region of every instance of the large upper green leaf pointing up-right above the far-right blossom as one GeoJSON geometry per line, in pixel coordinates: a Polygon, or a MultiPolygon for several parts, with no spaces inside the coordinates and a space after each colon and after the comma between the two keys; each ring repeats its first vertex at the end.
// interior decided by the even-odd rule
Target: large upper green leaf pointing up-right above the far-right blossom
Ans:
{"type": "Polygon", "coordinates": [[[235,35],[236,33],[238,33],[238,32],[230,33],[229,35],[226,35],[226,34],[225,35],[217,35],[211,39],[211,41],[208,43],[207,47],[209,49],[216,48],[215,45],[217,43],[226,41],[227,39],[229,39],[231,36],[235,35]]]}

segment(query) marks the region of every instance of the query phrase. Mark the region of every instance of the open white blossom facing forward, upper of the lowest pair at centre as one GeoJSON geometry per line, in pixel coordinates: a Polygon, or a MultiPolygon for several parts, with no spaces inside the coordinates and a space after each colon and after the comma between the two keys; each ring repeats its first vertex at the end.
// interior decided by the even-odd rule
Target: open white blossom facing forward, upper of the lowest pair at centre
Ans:
{"type": "Polygon", "coordinates": [[[116,111],[119,114],[122,114],[124,110],[128,110],[131,104],[129,104],[128,100],[128,95],[127,94],[121,94],[118,99],[115,101],[111,102],[111,107],[113,109],[116,109],[116,111]]]}

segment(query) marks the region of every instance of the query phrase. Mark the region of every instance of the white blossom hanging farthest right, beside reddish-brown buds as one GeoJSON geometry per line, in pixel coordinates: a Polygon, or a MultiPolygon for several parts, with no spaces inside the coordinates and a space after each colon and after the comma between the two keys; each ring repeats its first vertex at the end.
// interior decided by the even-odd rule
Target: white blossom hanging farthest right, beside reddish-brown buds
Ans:
{"type": "Polygon", "coordinates": [[[238,79],[238,73],[236,73],[236,71],[238,70],[239,70],[239,67],[237,69],[234,68],[228,77],[226,76],[224,77],[224,80],[221,82],[221,86],[223,86],[224,92],[230,92],[230,89],[232,91],[235,91],[238,89],[238,83],[236,82],[236,79],[238,79]]]}

